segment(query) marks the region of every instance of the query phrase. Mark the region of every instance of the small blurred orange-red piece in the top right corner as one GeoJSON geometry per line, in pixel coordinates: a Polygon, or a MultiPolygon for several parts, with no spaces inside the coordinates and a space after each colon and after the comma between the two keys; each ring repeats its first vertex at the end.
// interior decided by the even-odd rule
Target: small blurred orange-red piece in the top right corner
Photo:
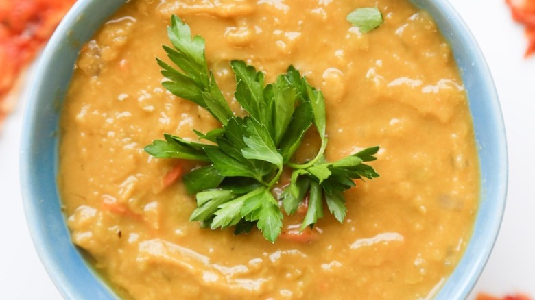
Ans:
{"type": "Polygon", "coordinates": [[[526,27],[528,46],[525,55],[535,53],[535,0],[506,0],[506,3],[514,20],[526,27]]]}

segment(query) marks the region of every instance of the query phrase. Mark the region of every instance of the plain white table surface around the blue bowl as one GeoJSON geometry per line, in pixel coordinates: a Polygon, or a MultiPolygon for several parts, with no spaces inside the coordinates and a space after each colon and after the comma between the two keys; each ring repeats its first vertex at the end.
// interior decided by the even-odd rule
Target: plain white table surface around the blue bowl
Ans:
{"type": "MultiPolygon", "coordinates": [[[[495,295],[535,297],[535,55],[523,58],[523,27],[503,0],[451,0],[477,38],[494,76],[509,149],[506,214],[475,286],[495,295]]],[[[24,96],[22,97],[24,98],[24,96]]],[[[0,288],[3,299],[61,299],[29,236],[19,188],[23,99],[0,132],[0,288]]]]}

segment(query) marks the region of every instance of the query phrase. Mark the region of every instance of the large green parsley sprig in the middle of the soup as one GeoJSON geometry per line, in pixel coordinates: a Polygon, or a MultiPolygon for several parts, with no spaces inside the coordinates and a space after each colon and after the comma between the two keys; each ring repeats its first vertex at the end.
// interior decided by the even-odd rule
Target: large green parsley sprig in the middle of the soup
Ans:
{"type": "Polygon", "coordinates": [[[272,188],[283,168],[292,168],[290,184],[281,200],[287,214],[294,214],[309,195],[309,205],[301,229],[312,227],[323,217],[323,201],[342,223],[346,216],[343,192],[355,186],[355,179],[379,177],[363,162],[375,160],[379,147],[372,147],[338,160],[326,162],[327,145],[325,103],[320,90],[313,88],[293,66],[276,82],[265,84],[264,74],[245,62],[230,66],[236,76],[235,98],[248,116],[235,116],[209,71],[204,56],[204,39],[191,38],[191,32],[178,16],[171,17],[169,40],[164,46],[171,62],[180,71],[157,59],[167,78],[163,86],[178,97],[206,108],[222,128],[195,133],[191,142],[165,134],[145,151],[155,158],[182,158],[207,162],[182,179],[189,193],[195,194],[198,208],[190,221],[200,221],[211,229],[236,226],[235,233],[248,232],[254,225],[266,239],[274,242],[281,233],[283,214],[272,188]],[[322,144],[315,158],[305,164],[292,162],[305,132],[314,125],[322,144]]]}

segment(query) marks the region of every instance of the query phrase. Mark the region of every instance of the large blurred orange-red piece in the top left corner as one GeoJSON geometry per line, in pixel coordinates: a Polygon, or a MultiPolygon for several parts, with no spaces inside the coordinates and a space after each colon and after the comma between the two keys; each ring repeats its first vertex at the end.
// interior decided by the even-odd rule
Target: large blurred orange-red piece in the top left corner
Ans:
{"type": "Polygon", "coordinates": [[[0,123],[5,97],[75,0],[0,0],[0,123]]]}

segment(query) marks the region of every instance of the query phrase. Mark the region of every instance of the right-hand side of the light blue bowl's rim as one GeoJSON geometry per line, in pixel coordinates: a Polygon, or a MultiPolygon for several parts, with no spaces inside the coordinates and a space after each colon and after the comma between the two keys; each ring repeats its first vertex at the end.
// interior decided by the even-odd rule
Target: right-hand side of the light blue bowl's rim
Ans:
{"type": "MultiPolygon", "coordinates": [[[[506,129],[503,122],[503,114],[499,104],[498,93],[494,80],[492,79],[492,73],[488,68],[488,64],[486,63],[475,36],[473,36],[471,30],[462,20],[460,14],[458,14],[449,1],[412,0],[412,2],[417,6],[420,6],[423,2],[429,3],[429,7],[425,8],[425,10],[433,15],[433,19],[440,27],[440,32],[449,42],[449,46],[453,48],[455,61],[457,62],[458,68],[460,68],[465,86],[466,84],[469,85],[471,83],[466,83],[467,76],[463,69],[463,64],[465,65],[464,67],[470,68],[474,74],[473,76],[476,77],[475,80],[480,82],[482,86],[486,86],[486,90],[483,92],[485,92],[485,97],[490,103],[486,116],[487,118],[490,117],[492,122],[485,125],[488,125],[490,130],[494,132],[495,140],[492,141],[492,145],[481,145],[482,139],[486,139],[486,137],[479,136],[478,133],[482,132],[482,130],[478,131],[477,129],[478,127],[481,129],[483,126],[482,122],[480,121],[478,123],[476,118],[482,118],[482,116],[476,115],[479,114],[479,112],[474,110],[474,103],[472,103],[470,97],[468,97],[474,132],[476,134],[475,138],[478,148],[482,190],[480,191],[477,216],[473,225],[473,233],[470,242],[468,242],[468,247],[466,247],[462,259],[455,266],[453,273],[447,277],[444,286],[440,287],[441,290],[436,295],[436,299],[466,299],[475,287],[477,280],[483,272],[484,266],[490,258],[490,253],[492,253],[492,249],[499,234],[501,222],[503,221],[508,188],[508,149],[506,129]],[[438,15],[440,15],[440,18],[442,19],[437,19],[438,15]],[[447,16],[445,20],[443,19],[444,16],[447,16]],[[448,29],[445,29],[447,24],[444,23],[446,22],[450,25],[455,24],[457,26],[454,30],[455,32],[449,32],[448,29]],[[459,45],[451,45],[450,38],[452,34],[459,35],[462,44],[464,44],[462,49],[457,49],[459,45]],[[468,62],[460,62],[460,60],[463,60],[463,55],[466,54],[464,53],[466,49],[469,49],[472,52],[472,55],[469,55],[471,60],[469,64],[468,62]],[[466,66],[466,64],[468,64],[468,66],[466,66]],[[486,160],[486,158],[482,158],[482,147],[493,147],[494,149],[492,149],[492,151],[495,151],[495,156],[501,158],[500,160],[494,161],[493,163],[495,166],[491,168],[493,172],[496,172],[494,181],[499,184],[490,189],[486,186],[488,178],[484,177],[484,168],[486,168],[486,166],[482,165],[482,161],[486,160]],[[496,199],[496,201],[488,203],[488,201],[485,201],[486,199],[496,199]]],[[[469,92],[469,88],[466,88],[466,91],[469,92]]]]}

